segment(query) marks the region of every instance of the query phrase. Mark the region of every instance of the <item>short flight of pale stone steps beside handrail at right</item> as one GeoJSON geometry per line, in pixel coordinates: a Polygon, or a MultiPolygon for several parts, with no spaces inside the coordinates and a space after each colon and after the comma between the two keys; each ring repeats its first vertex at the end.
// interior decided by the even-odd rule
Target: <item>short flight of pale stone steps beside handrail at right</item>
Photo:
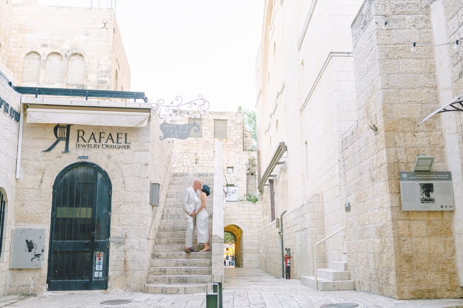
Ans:
{"type": "MultiPolygon", "coordinates": [[[[317,284],[320,291],[355,290],[354,281],[349,280],[345,255],[342,262],[328,262],[328,268],[317,269],[317,284]]],[[[314,276],[302,276],[302,284],[315,288],[314,276]]]]}

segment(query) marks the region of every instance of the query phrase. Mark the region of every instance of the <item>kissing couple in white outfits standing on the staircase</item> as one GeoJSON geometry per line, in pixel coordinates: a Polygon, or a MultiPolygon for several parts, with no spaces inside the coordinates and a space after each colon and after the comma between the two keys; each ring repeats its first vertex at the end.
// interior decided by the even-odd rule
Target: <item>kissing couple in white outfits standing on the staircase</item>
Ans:
{"type": "Polygon", "coordinates": [[[210,195],[210,187],[203,185],[200,180],[195,180],[193,186],[183,192],[183,216],[186,221],[187,231],[185,236],[185,252],[198,252],[193,247],[193,233],[196,229],[198,244],[204,244],[201,252],[210,251],[209,246],[209,215],[206,212],[207,196],[210,195]]]}

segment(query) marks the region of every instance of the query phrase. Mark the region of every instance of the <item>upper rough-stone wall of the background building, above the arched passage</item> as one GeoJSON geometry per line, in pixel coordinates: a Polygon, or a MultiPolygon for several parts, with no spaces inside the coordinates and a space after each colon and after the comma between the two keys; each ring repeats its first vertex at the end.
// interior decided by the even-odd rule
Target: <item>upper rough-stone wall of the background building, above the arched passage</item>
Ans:
{"type": "MultiPolygon", "coordinates": [[[[188,123],[188,117],[174,117],[172,123],[188,123]]],[[[186,140],[172,141],[172,172],[207,173],[214,168],[214,144],[220,141],[223,147],[223,184],[235,185],[239,199],[246,199],[248,190],[247,176],[256,177],[256,152],[243,150],[243,117],[240,112],[207,112],[198,121],[201,125],[201,137],[190,137],[186,140]],[[227,120],[227,138],[214,138],[214,120],[227,120]],[[199,159],[196,160],[195,157],[199,159]],[[233,171],[227,169],[232,167],[233,171]]],[[[159,136],[162,136],[160,134],[159,136]]],[[[204,183],[207,184],[207,183],[204,183]]],[[[224,188],[226,189],[226,188],[224,188]]],[[[255,191],[255,190],[254,190],[255,191]]]]}

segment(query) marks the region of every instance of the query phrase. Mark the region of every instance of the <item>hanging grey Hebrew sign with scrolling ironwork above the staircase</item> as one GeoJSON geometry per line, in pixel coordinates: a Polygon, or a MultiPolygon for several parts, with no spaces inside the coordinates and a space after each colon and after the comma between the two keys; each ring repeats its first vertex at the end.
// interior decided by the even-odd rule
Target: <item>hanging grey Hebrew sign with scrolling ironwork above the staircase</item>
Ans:
{"type": "Polygon", "coordinates": [[[158,100],[156,103],[152,103],[153,112],[164,123],[161,123],[161,131],[163,132],[162,137],[159,139],[164,140],[167,138],[175,138],[185,140],[190,137],[191,129],[194,128],[194,132],[199,132],[201,127],[198,123],[194,123],[194,119],[201,119],[206,114],[206,110],[209,109],[209,102],[203,99],[203,95],[199,94],[198,99],[184,102],[180,96],[175,97],[175,100],[166,103],[164,100],[158,100]],[[188,110],[182,110],[181,107],[187,108],[188,110]],[[191,110],[197,109],[197,110],[191,110]],[[185,124],[172,124],[166,123],[172,120],[174,115],[190,115],[193,118],[193,123],[185,124]]]}

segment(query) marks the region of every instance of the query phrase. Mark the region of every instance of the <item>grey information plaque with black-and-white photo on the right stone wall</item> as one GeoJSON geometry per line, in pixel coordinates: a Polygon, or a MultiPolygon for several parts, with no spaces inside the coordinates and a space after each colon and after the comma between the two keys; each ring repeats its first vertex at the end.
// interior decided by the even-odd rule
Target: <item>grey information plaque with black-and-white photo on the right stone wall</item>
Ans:
{"type": "Polygon", "coordinates": [[[402,210],[454,210],[448,171],[399,172],[402,210]]]}

